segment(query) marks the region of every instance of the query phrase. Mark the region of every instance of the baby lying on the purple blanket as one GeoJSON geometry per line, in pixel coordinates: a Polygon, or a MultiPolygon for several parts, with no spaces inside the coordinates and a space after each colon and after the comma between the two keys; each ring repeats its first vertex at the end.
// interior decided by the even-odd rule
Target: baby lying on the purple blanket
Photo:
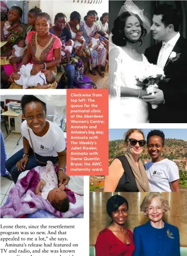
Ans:
{"type": "Polygon", "coordinates": [[[48,200],[57,211],[68,211],[69,199],[64,191],[65,187],[64,185],[58,187],[58,178],[51,161],[47,161],[46,170],[41,172],[40,177],[41,179],[35,189],[35,194],[41,195],[44,199],[48,200]]]}

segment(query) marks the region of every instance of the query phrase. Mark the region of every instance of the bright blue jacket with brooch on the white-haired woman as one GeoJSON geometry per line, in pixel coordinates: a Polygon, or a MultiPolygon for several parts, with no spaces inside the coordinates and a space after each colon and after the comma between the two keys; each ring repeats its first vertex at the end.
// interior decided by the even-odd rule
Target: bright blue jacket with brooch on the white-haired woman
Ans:
{"type": "Polygon", "coordinates": [[[133,240],[132,256],[180,256],[179,229],[168,223],[161,229],[154,228],[150,221],[135,227],[133,240]]]}

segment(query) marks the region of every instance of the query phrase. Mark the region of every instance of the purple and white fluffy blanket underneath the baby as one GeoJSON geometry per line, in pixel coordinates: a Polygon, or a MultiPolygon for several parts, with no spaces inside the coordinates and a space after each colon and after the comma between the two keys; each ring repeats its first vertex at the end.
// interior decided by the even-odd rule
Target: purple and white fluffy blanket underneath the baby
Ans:
{"type": "Polygon", "coordinates": [[[38,209],[47,210],[58,218],[70,218],[83,212],[84,198],[73,191],[66,191],[69,198],[69,210],[59,212],[40,195],[35,195],[34,191],[40,181],[39,174],[31,169],[25,177],[17,181],[8,195],[8,203],[1,207],[3,218],[19,218],[25,214],[32,214],[38,209]]]}

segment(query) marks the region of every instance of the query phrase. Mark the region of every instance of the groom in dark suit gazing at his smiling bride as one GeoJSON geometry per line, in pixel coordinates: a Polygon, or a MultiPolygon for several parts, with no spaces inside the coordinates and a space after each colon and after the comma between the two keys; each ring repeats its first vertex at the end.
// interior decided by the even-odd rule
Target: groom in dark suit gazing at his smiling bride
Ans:
{"type": "Polygon", "coordinates": [[[179,33],[180,14],[172,5],[161,4],[150,28],[155,40],[162,40],[145,51],[148,61],[164,70],[168,82],[162,81],[155,95],[144,96],[150,103],[150,123],[187,123],[187,40],[179,33]],[[158,108],[152,109],[151,104],[158,108]]]}

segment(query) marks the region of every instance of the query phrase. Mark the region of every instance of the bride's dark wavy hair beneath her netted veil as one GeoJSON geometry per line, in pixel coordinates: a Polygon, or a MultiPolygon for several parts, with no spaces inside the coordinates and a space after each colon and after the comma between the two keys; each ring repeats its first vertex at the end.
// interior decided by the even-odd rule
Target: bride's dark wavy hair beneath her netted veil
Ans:
{"type": "MultiPolygon", "coordinates": [[[[112,42],[117,45],[117,46],[125,46],[126,45],[126,36],[124,34],[124,27],[126,25],[126,21],[128,17],[130,17],[131,14],[129,12],[123,12],[121,13],[117,19],[114,20],[114,27],[112,29],[112,42]]],[[[138,15],[134,15],[140,22],[140,27],[141,27],[141,36],[138,39],[139,42],[141,42],[142,45],[142,40],[141,37],[147,34],[146,29],[141,25],[141,20],[138,15]]]]}

